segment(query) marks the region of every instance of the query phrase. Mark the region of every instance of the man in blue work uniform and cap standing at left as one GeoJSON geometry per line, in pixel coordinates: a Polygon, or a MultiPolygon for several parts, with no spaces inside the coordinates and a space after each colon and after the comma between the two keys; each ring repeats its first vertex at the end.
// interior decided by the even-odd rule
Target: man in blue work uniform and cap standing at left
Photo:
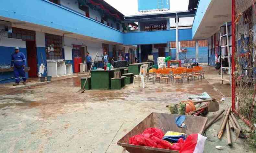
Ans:
{"type": "Polygon", "coordinates": [[[14,86],[19,85],[19,77],[21,76],[23,79],[23,84],[26,85],[26,77],[24,72],[24,67],[26,66],[26,58],[25,55],[19,52],[19,48],[15,48],[15,53],[12,54],[11,57],[11,67],[14,70],[15,84],[14,86]]]}

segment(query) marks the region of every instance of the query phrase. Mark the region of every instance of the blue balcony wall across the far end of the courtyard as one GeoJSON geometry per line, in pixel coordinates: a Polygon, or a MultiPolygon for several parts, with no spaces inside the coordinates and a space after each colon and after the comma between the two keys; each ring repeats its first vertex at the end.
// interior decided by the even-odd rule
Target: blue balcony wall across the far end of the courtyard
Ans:
{"type": "MultiPolygon", "coordinates": [[[[176,41],[176,30],[124,33],[124,45],[157,44],[176,41]]],[[[192,29],[180,29],[179,41],[192,40],[192,29]]]]}

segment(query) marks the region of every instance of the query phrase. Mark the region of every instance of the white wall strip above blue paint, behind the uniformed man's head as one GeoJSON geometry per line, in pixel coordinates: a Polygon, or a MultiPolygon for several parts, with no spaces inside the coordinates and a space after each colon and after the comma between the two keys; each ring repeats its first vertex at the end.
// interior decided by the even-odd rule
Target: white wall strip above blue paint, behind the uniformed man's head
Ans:
{"type": "Polygon", "coordinates": [[[22,41],[21,39],[2,37],[0,39],[0,46],[26,48],[26,41],[22,41]]]}

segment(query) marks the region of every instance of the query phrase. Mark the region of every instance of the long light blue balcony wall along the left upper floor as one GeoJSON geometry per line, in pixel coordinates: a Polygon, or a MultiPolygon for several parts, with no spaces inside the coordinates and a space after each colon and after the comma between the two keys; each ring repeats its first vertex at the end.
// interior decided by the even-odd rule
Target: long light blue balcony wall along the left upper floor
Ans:
{"type": "Polygon", "coordinates": [[[123,43],[121,31],[87,18],[63,6],[55,5],[48,0],[1,1],[0,16],[106,41],[123,43]],[[38,11],[39,7],[43,8],[43,11],[38,11]]]}

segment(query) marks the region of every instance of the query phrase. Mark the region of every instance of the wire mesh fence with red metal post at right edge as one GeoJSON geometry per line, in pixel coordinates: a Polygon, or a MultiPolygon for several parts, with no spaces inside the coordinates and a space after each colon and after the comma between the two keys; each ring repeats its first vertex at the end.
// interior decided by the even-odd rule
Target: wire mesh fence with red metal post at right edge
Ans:
{"type": "Polygon", "coordinates": [[[232,110],[249,126],[256,121],[255,0],[232,0],[232,110]]]}

